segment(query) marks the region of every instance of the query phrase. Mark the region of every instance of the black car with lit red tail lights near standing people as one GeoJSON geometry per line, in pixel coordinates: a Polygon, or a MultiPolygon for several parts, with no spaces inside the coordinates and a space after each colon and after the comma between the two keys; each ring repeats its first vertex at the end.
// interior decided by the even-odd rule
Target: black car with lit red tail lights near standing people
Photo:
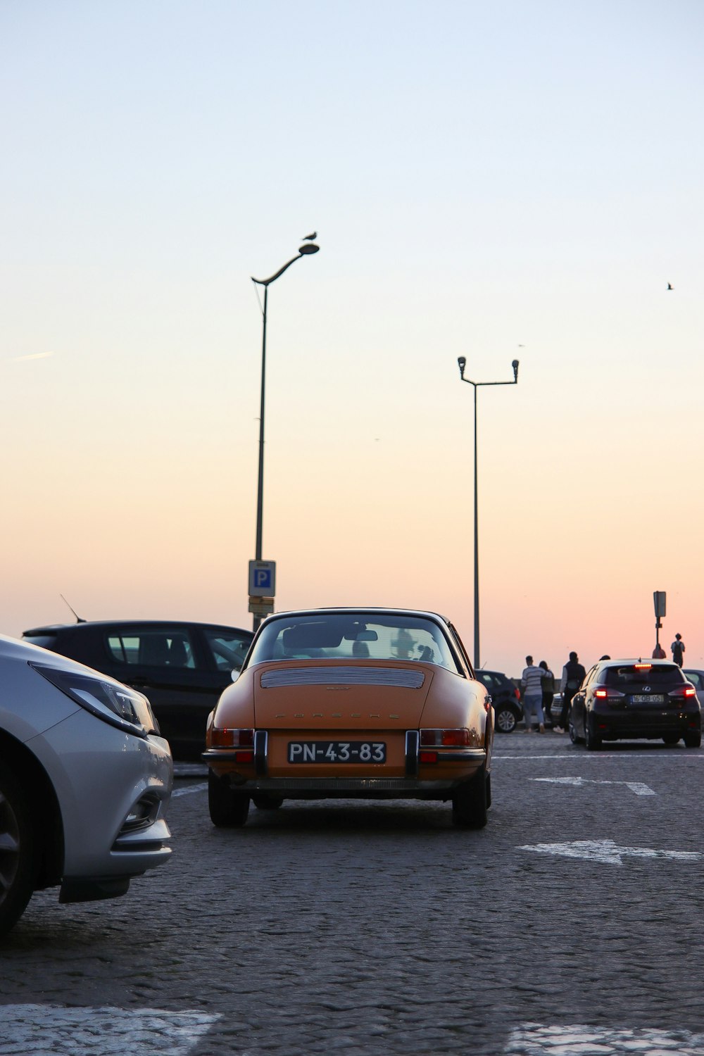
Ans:
{"type": "Polygon", "coordinates": [[[600,660],[572,697],[570,738],[588,751],[605,740],[662,738],[687,748],[702,743],[697,691],[668,660],[600,660]]]}

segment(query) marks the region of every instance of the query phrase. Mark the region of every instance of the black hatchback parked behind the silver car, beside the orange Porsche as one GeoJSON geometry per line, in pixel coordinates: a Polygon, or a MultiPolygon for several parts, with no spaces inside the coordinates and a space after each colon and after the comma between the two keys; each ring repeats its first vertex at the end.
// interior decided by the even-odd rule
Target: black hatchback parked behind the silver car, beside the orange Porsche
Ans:
{"type": "Polygon", "coordinates": [[[208,715],[242,667],[253,635],[215,623],[81,620],[33,627],[22,638],[139,690],[174,758],[198,759],[208,715]]]}

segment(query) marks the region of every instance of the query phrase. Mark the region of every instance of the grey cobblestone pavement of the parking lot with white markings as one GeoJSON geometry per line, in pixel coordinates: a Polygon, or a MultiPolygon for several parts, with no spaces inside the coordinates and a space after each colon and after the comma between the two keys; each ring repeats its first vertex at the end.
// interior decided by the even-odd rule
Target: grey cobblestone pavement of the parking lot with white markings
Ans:
{"type": "Polygon", "coordinates": [[[167,866],[32,900],[0,947],[0,1054],[704,1056],[704,751],[517,732],[492,785],[481,832],[400,802],[226,831],[189,773],[167,866]]]}

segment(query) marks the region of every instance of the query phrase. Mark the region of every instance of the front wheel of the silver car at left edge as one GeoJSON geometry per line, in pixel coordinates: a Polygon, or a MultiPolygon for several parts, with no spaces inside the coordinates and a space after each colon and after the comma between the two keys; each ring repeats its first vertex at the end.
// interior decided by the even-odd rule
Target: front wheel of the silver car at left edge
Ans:
{"type": "Polygon", "coordinates": [[[37,849],[26,796],[0,767],[0,935],[9,931],[32,898],[37,849]]]}

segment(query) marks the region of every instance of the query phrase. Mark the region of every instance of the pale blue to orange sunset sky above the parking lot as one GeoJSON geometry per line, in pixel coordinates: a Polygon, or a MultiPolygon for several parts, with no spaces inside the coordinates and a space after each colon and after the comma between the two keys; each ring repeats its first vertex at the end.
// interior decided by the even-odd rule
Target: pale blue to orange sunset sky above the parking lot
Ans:
{"type": "Polygon", "coordinates": [[[0,633],[400,605],[704,667],[699,0],[3,0],[0,633]],[[673,289],[668,290],[668,283],[673,289]],[[669,655],[669,650],[668,650],[669,655]]]}

